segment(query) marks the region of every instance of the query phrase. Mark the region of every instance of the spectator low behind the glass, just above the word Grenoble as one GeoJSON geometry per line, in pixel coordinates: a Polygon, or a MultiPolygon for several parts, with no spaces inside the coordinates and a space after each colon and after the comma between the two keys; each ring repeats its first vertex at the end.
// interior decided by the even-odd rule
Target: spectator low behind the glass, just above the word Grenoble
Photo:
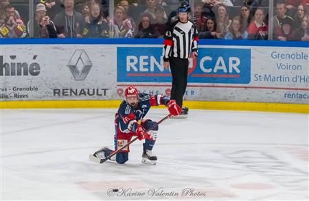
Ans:
{"type": "Polygon", "coordinates": [[[293,21],[286,18],[282,21],[282,27],[278,28],[274,40],[295,40],[294,32],[292,29],[293,21]]]}

